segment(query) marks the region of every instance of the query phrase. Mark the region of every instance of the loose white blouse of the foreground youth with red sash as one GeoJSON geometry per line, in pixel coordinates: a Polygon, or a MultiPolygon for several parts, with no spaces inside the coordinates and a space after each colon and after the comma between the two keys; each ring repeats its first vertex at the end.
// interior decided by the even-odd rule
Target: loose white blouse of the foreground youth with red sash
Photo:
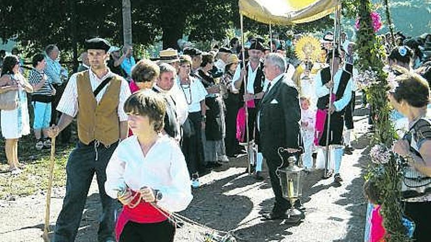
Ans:
{"type": "Polygon", "coordinates": [[[166,135],[160,135],[145,156],[135,135],[118,145],[106,167],[106,194],[117,198],[126,186],[159,190],[163,198],[157,204],[169,212],[186,209],[193,198],[184,155],[166,135]]]}

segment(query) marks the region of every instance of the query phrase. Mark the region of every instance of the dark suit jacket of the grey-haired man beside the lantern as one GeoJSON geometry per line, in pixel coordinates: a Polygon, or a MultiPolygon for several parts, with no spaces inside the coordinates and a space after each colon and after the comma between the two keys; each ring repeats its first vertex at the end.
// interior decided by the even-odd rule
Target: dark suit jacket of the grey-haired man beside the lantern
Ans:
{"type": "Polygon", "coordinates": [[[279,147],[299,148],[301,109],[298,91],[287,84],[285,77],[265,93],[259,113],[259,145],[266,159],[278,161],[279,147]]]}

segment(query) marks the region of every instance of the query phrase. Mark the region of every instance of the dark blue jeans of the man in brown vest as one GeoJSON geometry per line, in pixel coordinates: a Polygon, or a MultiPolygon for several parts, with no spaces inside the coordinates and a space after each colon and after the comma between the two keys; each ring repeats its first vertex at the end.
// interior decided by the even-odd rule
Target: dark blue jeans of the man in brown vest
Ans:
{"type": "Polygon", "coordinates": [[[98,241],[115,241],[114,213],[116,205],[115,200],[106,195],[105,192],[105,170],[117,145],[118,143],[114,143],[105,147],[103,144],[99,144],[96,148],[94,143],[85,145],[78,142],[76,148],[70,154],[66,166],[66,197],[55,226],[54,242],[75,241],[82,211],[95,173],[102,203],[102,216],[100,217],[99,230],[97,231],[98,241]]]}

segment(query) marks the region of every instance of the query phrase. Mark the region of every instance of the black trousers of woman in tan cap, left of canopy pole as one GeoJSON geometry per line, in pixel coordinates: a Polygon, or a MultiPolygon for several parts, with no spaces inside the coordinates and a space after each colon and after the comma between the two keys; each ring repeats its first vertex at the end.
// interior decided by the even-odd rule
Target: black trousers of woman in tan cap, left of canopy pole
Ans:
{"type": "Polygon", "coordinates": [[[226,106],[226,135],[224,138],[224,146],[226,154],[237,154],[239,142],[237,140],[237,115],[239,110],[239,94],[228,93],[228,97],[224,100],[226,106]]]}

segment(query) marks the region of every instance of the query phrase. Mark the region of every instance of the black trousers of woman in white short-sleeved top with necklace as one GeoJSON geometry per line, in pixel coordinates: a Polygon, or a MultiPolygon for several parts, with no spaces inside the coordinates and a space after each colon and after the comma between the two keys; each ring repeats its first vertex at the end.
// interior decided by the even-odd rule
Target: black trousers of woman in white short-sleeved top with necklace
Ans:
{"type": "Polygon", "coordinates": [[[187,117],[192,124],[192,135],[183,137],[182,151],[186,158],[189,174],[195,174],[199,169],[205,167],[203,164],[203,144],[202,144],[202,116],[201,112],[190,112],[187,117]]]}

